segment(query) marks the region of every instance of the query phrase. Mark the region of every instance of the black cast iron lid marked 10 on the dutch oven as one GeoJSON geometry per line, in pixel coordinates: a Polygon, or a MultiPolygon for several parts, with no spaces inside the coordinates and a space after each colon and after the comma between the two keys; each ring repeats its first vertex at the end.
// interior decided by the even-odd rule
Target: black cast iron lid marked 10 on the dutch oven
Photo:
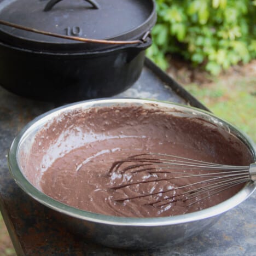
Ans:
{"type": "MultiPolygon", "coordinates": [[[[156,13],[153,0],[3,0],[0,19],[67,36],[131,40],[141,39],[154,26],[156,13]]],[[[89,46],[4,25],[0,25],[0,41],[44,50],[89,46]]]]}

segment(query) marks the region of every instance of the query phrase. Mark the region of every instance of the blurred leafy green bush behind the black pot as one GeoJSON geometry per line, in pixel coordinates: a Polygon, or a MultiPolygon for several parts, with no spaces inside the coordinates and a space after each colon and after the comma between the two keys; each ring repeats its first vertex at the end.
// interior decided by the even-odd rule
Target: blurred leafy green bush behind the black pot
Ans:
{"type": "Polygon", "coordinates": [[[217,75],[256,57],[256,0],[156,0],[147,56],[166,69],[178,53],[217,75]]]}

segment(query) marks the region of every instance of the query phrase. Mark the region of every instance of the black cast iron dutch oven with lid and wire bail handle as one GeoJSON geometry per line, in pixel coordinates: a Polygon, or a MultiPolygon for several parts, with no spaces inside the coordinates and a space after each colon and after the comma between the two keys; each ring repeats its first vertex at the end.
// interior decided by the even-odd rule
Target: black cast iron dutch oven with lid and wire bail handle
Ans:
{"type": "Polygon", "coordinates": [[[96,1],[0,1],[0,84],[28,98],[72,102],[135,83],[152,43],[154,0],[96,1]],[[74,37],[96,40],[67,39],[74,37]]]}

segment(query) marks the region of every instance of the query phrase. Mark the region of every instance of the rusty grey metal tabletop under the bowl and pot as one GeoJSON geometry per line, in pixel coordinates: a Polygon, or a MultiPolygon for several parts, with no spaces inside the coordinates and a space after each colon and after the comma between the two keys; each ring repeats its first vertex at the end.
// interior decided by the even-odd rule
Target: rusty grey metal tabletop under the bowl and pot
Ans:
{"type": "MultiPolygon", "coordinates": [[[[204,108],[177,83],[152,68],[152,63],[146,64],[138,82],[119,96],[155,98],[204,108]]],[[[0,87],[0,210],[18,255],[255,255],[255,193],[201,235],[182,245],[157,251],[106,248],[60,226],[51,210],[32,200],[14,183],[6,159],[18,131],[28,121],[54,107],[53,103],[27,100],[0,87]]]]}

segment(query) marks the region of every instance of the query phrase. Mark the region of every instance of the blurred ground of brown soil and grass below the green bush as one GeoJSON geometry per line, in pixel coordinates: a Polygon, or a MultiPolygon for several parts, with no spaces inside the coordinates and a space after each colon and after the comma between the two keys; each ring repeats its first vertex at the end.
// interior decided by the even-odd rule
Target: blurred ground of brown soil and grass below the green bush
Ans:
{"type": "Polygon", "coordinates": [[[167,73],[214,114],[256,142],[256,59],[236,65],[218,77],[193,67],[179,56],[169,56],[167,73]]]}

